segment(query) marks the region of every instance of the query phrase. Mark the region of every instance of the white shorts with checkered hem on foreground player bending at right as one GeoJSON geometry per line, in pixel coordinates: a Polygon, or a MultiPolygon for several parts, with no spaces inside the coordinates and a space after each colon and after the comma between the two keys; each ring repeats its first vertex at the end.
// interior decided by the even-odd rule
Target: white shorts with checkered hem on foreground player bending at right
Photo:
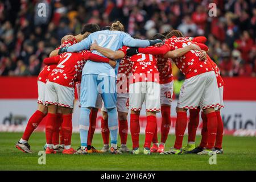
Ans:
{"type": "Polygon", "coordinates": [[[217,79],[214,71],[185,79],[180,89],[177,107],[183,109],[208,109],[220,105],[217,79]]]}

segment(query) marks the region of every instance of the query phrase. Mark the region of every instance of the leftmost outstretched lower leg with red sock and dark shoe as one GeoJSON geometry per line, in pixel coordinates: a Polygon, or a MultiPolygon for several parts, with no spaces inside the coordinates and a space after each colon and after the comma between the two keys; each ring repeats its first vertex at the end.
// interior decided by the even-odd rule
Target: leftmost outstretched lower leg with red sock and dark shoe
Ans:
{"type": "Polygon", "coordinates": [[[38,109],[28,120],[26,129],[22,135],[22,138],[19,142],[16,143],[15,147],[18,150],[23,151],[25,153],[32,153],[30,150],[30,144],[28,144],[28,139],[30,138],[33,131],[38,127],[39,123],[43,120],[43,118],[47,114],[47,106],[43,104],[38,104],[38,109]]]}

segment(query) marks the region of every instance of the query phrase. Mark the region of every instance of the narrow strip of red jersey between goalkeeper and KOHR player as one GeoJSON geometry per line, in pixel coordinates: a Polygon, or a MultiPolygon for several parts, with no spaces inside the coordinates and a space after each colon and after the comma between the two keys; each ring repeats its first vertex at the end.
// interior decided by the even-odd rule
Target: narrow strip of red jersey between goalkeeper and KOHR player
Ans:
{"type": "Polygon", "coordinates": [[[118,67],[117,93],[129,93],[129,74],[130,73],[131,73],[131,64],[129,61],[129,57],[126,56],[120,61],[119,67],[118,67]]]}

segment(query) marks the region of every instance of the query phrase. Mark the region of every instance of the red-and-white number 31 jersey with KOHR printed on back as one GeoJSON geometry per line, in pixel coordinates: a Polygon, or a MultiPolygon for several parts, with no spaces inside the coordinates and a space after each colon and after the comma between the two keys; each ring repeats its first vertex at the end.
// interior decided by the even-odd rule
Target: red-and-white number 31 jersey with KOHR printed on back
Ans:
{"type": "MultiPolygon", "coordinates": [[[[126,55],[126,51],[129,49],[127,46],[123,46],[121,51],[126,55]]],[[[159,82],[159,72],[156,66],[156,57],[150,54],[138,53],[130,57],[131,72],[133,78],[129,79],[129,83],[134,82],[159,82]]]]}

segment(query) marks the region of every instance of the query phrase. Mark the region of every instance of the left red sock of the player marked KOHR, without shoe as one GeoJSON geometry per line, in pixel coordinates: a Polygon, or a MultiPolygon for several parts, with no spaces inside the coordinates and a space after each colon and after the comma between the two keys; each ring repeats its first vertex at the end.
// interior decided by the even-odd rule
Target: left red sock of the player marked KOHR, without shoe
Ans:
{"type": "Polygon", "coordinates": [[[139,147],[139,114],[130,114],[130,131],[133,148],[139,147]]]}

